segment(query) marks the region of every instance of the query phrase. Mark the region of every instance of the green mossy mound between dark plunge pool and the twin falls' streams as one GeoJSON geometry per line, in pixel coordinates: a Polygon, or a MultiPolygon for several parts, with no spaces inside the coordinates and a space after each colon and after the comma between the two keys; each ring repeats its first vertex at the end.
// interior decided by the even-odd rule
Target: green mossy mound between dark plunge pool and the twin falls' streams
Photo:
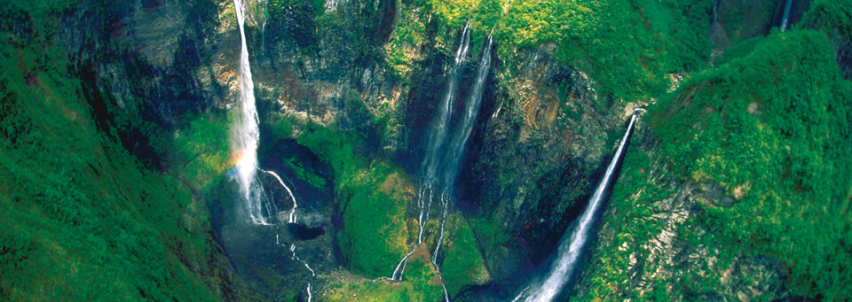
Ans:
{"type": "Polygon", "coordinates": [[[364,140],[358,135],[316,124],[305,125],[296,137],[333,171],[336,202],[343,213],[338,244],[348,267],[371,278],[390,276],[408,252],[406,203],[414,188],[399,168],[359,156],[359,141],[364,140]]]}

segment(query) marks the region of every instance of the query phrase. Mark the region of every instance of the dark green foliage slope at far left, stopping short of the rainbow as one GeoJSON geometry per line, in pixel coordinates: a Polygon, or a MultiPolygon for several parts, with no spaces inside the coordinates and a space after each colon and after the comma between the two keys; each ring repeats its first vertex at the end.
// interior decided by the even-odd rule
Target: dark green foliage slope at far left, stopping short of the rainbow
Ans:
{"type": "Polygon", "coordinates": [[[39,29],[28,41],[0,34],[0,298],[214,299],[185,264],[211,254],[194,233],[205,212],[99,129],[51,43],[59,4],[20,3],[39,29]]]}

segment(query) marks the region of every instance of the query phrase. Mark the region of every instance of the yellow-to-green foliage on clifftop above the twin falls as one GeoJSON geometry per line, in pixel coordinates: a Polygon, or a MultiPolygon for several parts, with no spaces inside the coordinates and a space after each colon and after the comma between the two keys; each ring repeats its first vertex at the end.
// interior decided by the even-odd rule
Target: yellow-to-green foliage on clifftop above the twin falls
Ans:
{"type": "MultiPolygon", "coordinates": [[[[438,16],[443,33],[454,32],[470,20],[476,33],[473,50],[492,30],[504,61],[512,61],[518,48],[554,43],[556,58],[589,72],[605,94],[648,99],[668,88],[666,73],[696,69],[706,61],[710,4],[698,0],[430,0],[425,7],[438,16]]],[[[403,25],[398,30],[412,29],[403,25]]],[[[438,38],[447,51],[457,43],[445,35],[438,38]]]]}

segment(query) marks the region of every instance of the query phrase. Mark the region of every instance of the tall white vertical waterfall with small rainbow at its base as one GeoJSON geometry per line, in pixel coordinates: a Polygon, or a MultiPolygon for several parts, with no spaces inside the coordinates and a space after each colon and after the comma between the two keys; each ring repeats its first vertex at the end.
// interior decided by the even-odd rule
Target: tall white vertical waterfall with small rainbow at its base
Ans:
{"type": "Polygon", "coordinates": [[[248,66],[248,49],[245,23],[245,7],[241,0],[233,0],[240,27],[240,114],[234,122],[231,141],[233,153],[237,155],[237,182],[245,197],[248,216],[256,224],[268,224],[266,217],[272,214],[268,204],[263,202],[263,187],[256,181],[257,176],[257,143],[260,132],[257,128],[257,110],[255,107],[255,84],[251,81],[251,68],[248,66]],[[265,214],[264,214],[265,213],[265,214]]]}

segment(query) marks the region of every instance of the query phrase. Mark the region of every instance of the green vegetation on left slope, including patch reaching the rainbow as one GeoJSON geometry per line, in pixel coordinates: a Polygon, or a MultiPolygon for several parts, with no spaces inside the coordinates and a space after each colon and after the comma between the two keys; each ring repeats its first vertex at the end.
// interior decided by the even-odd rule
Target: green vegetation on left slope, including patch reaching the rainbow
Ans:
{"type": "Polygon", "coordinates": [[[74,5],[0,5],[0,299],[239,297],[203,203],[228,167],[227,119],[171,132],[145,119],[150,101],[109,99],[55,44],[74,5]]]}

